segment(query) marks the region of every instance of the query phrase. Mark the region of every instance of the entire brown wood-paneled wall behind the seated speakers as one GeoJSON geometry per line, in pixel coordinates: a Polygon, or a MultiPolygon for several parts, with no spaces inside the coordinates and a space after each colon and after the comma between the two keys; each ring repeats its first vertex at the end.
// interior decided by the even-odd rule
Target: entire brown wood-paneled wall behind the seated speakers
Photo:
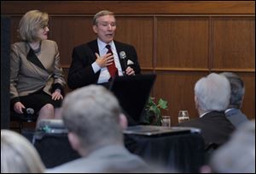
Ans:
{"type": "Polygon", "coordinates": [[[163,114],[172,116],[172,125],[179,109],[197,116],[195,82],[222,71],[245,81],[242,111],[255,118],[254,1],[2,1],[2,14],[11,16],[11,42],[31,9],[49,13],[49,39],[58,43],[66,77],[73,48],[95,38],[93,15],[109,9],[116,14],[115,39],[137,48],[143,73],[158,75],[152,96],[168,101],[163,114]]]}

